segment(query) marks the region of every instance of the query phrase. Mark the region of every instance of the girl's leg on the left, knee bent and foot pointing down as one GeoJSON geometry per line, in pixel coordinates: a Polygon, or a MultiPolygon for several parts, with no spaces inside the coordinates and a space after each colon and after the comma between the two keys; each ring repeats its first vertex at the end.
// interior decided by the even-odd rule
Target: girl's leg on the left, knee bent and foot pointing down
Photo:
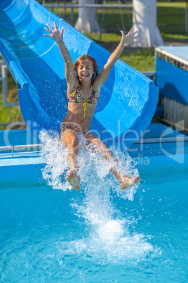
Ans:
{"type": "Polygon", "coordinates": [[[61,133],[61,140],[67,146],[70,172],[67,174],[67,181],[75,189],[80,189],[80,177],[78,175],[79,167],[77,161],[77,154],[79,153],[79,139],[76,137],[74,130],[65,129],[61,133]]]}

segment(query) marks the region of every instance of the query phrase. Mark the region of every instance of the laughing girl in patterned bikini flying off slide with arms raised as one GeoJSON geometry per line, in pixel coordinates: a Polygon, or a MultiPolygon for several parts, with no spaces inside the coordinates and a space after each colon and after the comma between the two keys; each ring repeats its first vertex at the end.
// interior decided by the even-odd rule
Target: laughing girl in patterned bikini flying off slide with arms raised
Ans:
{"type": "MultiPolygon", "coordinates": [[[[48,24],[47,24],[48,25],[48,24]]],[[[103,67],[100,74],[98,74],[98,65],[94,58],[83,55],[77,58],[75,63],[72,63],[72,58],[69,55],[65,43],[63,42],[63,31],[59,31],[54,22],[54,29],[51,25],[44,27],[50,34],[44,34],[46,37],[52,37],[58,43],[60,53],[65,60],[65,77],[67,80],[67,100],[68,111],[62,122],[60,130],[60,138],[68,149],[68,163],[70,171],[67,174],[67,181],[78,191],[80,189],[79,167],[77,162],[77,155],[79,153],[79,137],[77,132],[82,132],[86,137],[86,144],[91,144],[92,148],[100,151],[107,161],[113,161],[112,173],[117,177],[121,189],[126,189],[131,185],[140,181],[140,177],[128,177],[121,175],[121,168],[119,168],[118,161],[109,151],[108,147],[103,144],[98,137],[90,133],[90,122],[95,113],[95,108],[98,103],[100,89],[109,77],[109,73],[121,55],[125,46],[135,42],[139,36],[135,36],[137,32],[132,34],[132,30],[127,35],[121,31],[122,38],[119,46],[109,56],[106,65],[103,67]],[[76,74],[75,74],[75,73],[76,74]]]]}

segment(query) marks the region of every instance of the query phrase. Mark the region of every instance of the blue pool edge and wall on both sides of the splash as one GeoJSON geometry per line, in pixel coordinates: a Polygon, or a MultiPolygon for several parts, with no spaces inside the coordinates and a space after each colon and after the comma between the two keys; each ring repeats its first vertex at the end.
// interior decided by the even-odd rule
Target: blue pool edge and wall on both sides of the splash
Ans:
{"type": "MultiPolygon", "coordinates": [[[[167,127],[165,130],[168,130],[167,127]]],[[[15,132],[17,138],[18,132],[15,132]]],[[[22,137],[26,132],[21,131],[22,137]]],[[[187,136],[174,131],[171,137],[143,137],[145,135],[130,146],[128,155],[135,161],[135,168],[144,182],[166,182],[166,176],[169,182],[188,179],[187,136]]],[[[46,185],[42,175],[46,160],[41,144],[22,142],[14,146],[2,146],[1,149],[0,188],[46,185]]]]}

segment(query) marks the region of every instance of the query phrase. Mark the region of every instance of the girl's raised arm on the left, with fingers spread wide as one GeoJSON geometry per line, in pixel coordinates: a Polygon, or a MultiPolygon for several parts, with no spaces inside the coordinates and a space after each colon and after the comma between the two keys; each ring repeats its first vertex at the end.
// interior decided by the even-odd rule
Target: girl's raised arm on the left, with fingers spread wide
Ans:
{"type": "Polygon", "coordinates": [[[74,89],[75,84],[78,82],[76,75],[74,74],[74,65],[72,63],[72,58],[69,54],[69,51],[67,50],[67,47],[65,46],[65,43],[63,42],[63,32],[65,27],[62,27],[61,31],[58,30],[58,27],[56,23],[54,22],[54,27],[51,27],[51,25],[47,24],[47,27],[44,27],[45,30],[47,30],[50,34],[43,34],[46,37],[51,37],[55,40],[55,42],[58,43],[60,53],[62,55],[62,58],[65,61],[65,77],[67,80],[67,87],[68,90],[72,91],[74,89]]]}

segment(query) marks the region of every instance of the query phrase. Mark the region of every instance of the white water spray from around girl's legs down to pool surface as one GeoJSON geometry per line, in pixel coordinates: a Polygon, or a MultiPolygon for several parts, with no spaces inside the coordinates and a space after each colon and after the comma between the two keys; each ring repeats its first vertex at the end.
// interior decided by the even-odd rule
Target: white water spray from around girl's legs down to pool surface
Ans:
{"type": "MultiPolygon", "coordinates": [[[[53,189],[71,189],[65,180],[69,165],[67,149],[58,137],[51,137],[47,132],[40,134],[43,144],[43,156],[46,157],[46,167],[43,178],[53,189]]],[[[109,172],[112,167],[100,154],[84,146],[84,139],[79,151],[79,176],[81,190],[84,196],[81,201],[72,201],[75,215],[86,222],[88,236],[74,241],[64,242],[60,249],[62,253],[76,253],[82,257],[92,257],[103,263],[113,260],[126,262],[140,260],[148,253],[154,253],[154,248],[147,242],[143,234],[130,234],[128,227],[135,225],[135,220],[125,218],[120,210],[114,208],[112,194],[133,201],[137,186],[121,190],[116,177],[109,172]]],[[[119,160],[123,173],[129,176],[138,175],[135,163],[119,149],[112,148],[112,153],[119,160]]],[[[77,194],[75,192],[75,194],[77,194]]]]}

